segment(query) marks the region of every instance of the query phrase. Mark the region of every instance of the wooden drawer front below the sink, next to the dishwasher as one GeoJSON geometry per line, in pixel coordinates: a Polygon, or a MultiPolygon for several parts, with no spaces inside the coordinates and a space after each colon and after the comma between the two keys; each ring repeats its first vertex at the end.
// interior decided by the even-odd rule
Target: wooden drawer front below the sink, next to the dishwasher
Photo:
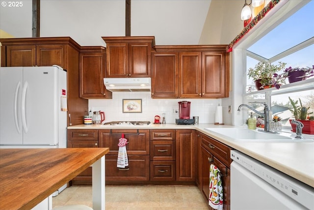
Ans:
{"type": "Polygon", "coordinates": [[[222,163],[230,167],[230,148],[208,136],[202,136],[202,146],[217,157],[222,163]]]}

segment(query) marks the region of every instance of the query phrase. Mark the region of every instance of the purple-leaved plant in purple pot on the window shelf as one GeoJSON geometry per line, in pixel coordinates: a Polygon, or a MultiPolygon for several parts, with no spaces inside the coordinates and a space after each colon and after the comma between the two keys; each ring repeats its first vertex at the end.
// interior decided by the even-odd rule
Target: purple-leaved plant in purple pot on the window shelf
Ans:
{"type": "Polygon", "coordinates": [[[314,65],[311,67],[295,67],[289,66],[282,74],[274,74],[275,79],[286,79],[288,77],[289,83],[305,80],[306,78],[314,76],[314,65]]]}

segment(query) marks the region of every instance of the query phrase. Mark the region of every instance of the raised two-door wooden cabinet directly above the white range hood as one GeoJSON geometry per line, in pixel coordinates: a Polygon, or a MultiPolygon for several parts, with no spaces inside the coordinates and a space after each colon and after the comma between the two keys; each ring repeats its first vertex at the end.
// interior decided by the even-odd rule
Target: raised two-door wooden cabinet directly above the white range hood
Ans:
{"type": "Polygon", "coordinates": [[[106,77],[150,77],[154,36],[102,37],[106,43],[106,77]]]}

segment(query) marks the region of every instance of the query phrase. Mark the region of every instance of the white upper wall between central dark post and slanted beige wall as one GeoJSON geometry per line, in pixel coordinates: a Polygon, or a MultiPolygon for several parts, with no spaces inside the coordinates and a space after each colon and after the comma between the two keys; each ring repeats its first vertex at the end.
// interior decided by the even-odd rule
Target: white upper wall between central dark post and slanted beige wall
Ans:
{"type": "Polygon", "coordinates": [[[131,35],[154,35],[157,45],[196,45],[211,0],[131,0],[131,35]]]}

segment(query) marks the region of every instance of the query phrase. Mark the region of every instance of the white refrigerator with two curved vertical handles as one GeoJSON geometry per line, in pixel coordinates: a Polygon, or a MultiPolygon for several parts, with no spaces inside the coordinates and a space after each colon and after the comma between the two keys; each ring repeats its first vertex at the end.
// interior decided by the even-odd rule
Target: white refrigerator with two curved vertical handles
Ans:
{"type": "MultiPolygon", "coordinates": [[[[0,148],[66,148],[66,131],[66,70],[0,67],[0,148]]],[[[34,209],[51,209],[46,200],[34,209]]]]}

